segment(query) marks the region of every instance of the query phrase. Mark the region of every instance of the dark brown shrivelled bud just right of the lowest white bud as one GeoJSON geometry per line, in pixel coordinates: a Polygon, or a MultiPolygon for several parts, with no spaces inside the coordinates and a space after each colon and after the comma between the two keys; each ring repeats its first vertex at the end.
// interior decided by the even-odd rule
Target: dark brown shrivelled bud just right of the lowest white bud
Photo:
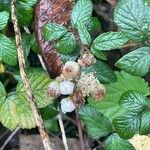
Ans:
{"type": "Polygon", "coordinates": [[[72,101],[76,106],[81,107],[85,104],[85,97],[81,91],[75,91],[72,96],[72,101]]]}

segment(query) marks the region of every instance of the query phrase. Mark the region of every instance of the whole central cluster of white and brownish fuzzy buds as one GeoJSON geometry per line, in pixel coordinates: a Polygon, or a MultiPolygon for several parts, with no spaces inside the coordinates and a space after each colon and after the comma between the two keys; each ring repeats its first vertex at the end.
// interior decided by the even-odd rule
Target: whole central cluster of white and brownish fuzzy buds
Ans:
{"type": "Polygon", "coordinates": [[[48,96],[69,95],[61,100],[61,110],[63,113],[72,112],[80,103],[84,104],[86,96],[91,95],[95,100],[103,98],[105,87],[94,74],[80,72],[80,66],[83,66],[83,64],[90,65],[93,61],[95,61],[93,56],[89,57],[86,54],[80,60],[80,63],[74,61],[66,62],[62,74],[54,82],[50,83],[47,92],[48,96]],[[88,58],[92,61],[88,60],[88,58]],[[82,65],[80,65],[81,61],[82,65]]]}

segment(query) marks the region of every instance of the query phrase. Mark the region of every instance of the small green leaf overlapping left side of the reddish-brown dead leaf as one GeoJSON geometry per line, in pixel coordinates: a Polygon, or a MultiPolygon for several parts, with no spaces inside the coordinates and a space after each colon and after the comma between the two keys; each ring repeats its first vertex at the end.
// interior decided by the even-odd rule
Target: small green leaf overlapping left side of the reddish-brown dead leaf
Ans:
{"type": "Polygon", "coordinates": [[[47,23],[43,27],[43,36],[47,41],[58,40],[60,37],[65,35],[67,32],[67,28],[56,24],[56,23],[47,23]]]}

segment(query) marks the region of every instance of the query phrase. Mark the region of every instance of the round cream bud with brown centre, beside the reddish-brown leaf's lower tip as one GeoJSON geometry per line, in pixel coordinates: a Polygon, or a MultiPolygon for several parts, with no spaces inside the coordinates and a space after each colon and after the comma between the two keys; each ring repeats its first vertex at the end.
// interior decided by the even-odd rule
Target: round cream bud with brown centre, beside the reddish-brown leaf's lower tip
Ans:
{"type": "Polygon", "coordinates": [[[79,64],[74,61],[67,61],[63,67],[63,75],[68,78],[78,77],[80,74],[79,64]]]}

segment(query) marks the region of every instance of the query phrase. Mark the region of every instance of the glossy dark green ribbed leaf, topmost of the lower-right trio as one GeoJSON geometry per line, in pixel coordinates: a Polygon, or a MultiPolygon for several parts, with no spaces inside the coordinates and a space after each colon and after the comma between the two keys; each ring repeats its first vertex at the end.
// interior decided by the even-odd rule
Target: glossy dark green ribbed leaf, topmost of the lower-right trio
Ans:
{"type": "Polygon", "coordinates": [[[119,104],[129,111],[141,112],[146,106],[146,97],[136,91],[127,91],[121,96],[119,104]]]}

